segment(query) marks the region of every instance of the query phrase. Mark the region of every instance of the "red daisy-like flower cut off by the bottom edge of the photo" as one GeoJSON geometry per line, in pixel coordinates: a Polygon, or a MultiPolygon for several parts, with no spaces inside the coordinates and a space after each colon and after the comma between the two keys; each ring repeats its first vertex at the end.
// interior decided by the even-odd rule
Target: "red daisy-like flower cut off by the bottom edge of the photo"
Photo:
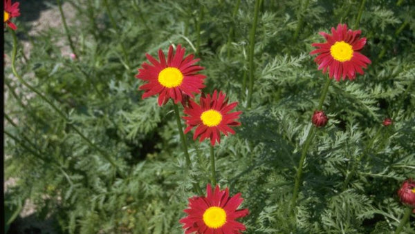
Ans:
{"type": "Polygon", "coordinates": [[[185,234],[231,234],[245,231],[245,225],[235,221],[249,214],[247,208],[237,209],[243,202],[241,193],[230,197],[228,188],[221,191],[217,185],[212,193],[210,184],[206,191],[206,197],[195,196],[189,199],[189,208],[184,210],[188,216],[180,220],[184,224],[185,234]]]}

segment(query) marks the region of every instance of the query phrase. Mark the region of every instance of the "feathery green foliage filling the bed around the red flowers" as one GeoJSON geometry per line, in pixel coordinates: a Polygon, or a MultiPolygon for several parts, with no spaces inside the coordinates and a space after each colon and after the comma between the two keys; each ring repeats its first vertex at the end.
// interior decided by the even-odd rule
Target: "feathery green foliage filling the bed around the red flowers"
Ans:
{"type": "MultiPolygon", "coordinates": [[[[180,43],[205,67],[203,91],[223,90],[243,110],[237,134],[216,147],[216,170],[221,187],[245,199],[246,233],[391,233],[398,226],[405,207],[396,191],[415,177],[412,1],[261,1],[252,108],[243,80],[255,1],[64,1],[73,9],[64,14],[75,51],[62,24],[29,33],[35,15],[25,9],[35,2],[57,9],[55,1],[20,2],[13,21],[19,43],[31,47],[30,55],[19,47],[17,71],[66,118],[6,64],[4,170],[16,181],[5,194],[6,221],[29,199],[57,233],[183,233],[178,220],[194,195],[189,175],[202,188],[210,181],[209,145],[187,135],[189,174],[172,104],[141,99],[143,83],[134,77],[146,52],[180,43]],[[332,81],[324,102],[329,124],[311,142],[292,220],[299,152],[324,84],[311,43],[338,23],[362,30],[362,53],[372,64],[355,81],[332,81]],[[386,117],[391,126],[382,126],[386,117]]],[[[10,56],[10,32],[4,43],[10,56]]],[[[407,233],[415,232],[414,215],[410,221],[407,233]]]]}

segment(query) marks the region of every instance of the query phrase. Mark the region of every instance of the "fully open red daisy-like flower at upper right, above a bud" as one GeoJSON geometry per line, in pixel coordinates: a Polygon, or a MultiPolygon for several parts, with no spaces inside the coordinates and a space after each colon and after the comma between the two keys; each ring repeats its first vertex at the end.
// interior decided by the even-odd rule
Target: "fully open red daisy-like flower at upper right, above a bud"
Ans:
{"type": "Polygon", "coordinates": [[[325,39],[325,43],[312,43],[311,46],[316,50],[311,51],[311,55],[319,54],[314,61],[317,62],[318,70],[329,69],[329,77],[335,78],[336,81],[348,77],[350,80],[356,78],[356,72],[364,74],[362,68],[367,68],[371,61],[360,54],[363,46],[366,44],[366,38],[360,38],[360,30],[347,30],[347,25],[340,24],[337,29],[331,28],[331,34],[319,32],[325,39]]]}

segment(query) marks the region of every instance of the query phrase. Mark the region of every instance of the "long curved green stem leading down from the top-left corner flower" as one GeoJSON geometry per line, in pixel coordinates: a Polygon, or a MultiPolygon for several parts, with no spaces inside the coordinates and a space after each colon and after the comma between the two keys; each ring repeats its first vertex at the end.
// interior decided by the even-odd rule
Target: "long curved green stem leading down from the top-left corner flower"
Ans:
{"type": "Polygon", "coordinates": [[[92,148],[95,148],[95,150],[97,150],[105,159],[107,159],[107,161],[114,166],[118,172],[120,173],[120,175],[123,177],[123,173],[120,170],[120,168],[118,168],[118,165],[116,164],[116,162],[113,161],[113,159],[101,148],[99,148],[98,146],[96,146],[95,144],[93,144],[91,142],[91,140],[88,139],[88,137],[86,137],[84,134],[81,133],[81,131],[79,129],[77,129],[75,127],[75,125],[71,122],[70,119],[68,119],[68,117],[66,117],[66,115],[59,110],[59,108],[57,108],[57,106],[55,106],[55,104],[52,103],[52,101],[50,101],[48,98],[46,98],[44,95],[42,95],[41,92],[39,92],[39,90],[37,90],[36,88],[34,88],[33,86],[30,86],[30,84],[28,84],[26,81],[24,81],[24,79],[19,75],[19,73],[17,73],[16,67],[15,67],[15,61],[16,61],[16,54],[17,54],[17,37],[16,37],[16,32],[14,30],[10,30],[10,32],[12,33],[13,36],[13,48],[12,48],[12,72],[15,75],[15,77],[17,77],[17,79],[19,79],[19,81],[21,82],[21,84],[23,84],[24,86],[26,86],[26,88],[28,88],[30,91],[35,92],[39,97],[41,97],[44,101],[46,101],[47,104],[49,104],[50,107],[53,108],[53,110],[56,111],[56,113],[62,117],[62,119],[64,119],[68,126],[71,126],[71,128],[73,130],[75,130],[75,132],[80,135],[80,137],[82,139],[84,139],[84,141],[86,143],[89,144],[89,146],[91,146],[92,148]]]}

